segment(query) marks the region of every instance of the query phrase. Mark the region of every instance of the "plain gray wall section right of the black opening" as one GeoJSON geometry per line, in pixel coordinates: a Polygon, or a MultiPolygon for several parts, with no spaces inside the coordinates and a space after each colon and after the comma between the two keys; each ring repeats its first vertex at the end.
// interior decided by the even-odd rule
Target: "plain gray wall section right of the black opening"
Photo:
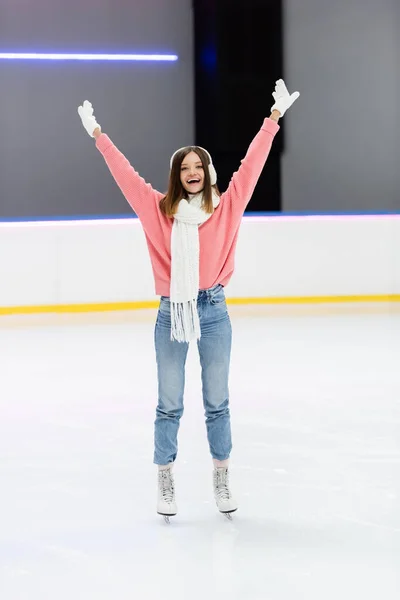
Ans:
{"type": "Polygon", "coordinates": [[[284,25],[284,210],[400,210],[399,0],[286,0],[284,25]]]}

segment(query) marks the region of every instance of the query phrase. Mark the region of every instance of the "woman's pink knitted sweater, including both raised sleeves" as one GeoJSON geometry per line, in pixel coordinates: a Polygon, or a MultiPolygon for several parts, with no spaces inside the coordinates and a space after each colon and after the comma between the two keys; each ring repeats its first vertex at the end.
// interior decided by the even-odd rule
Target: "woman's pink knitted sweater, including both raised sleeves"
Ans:
{"type": "MultiPolygon", "coordinates": [[[[279,125],[275,121],[264,120],[239,169],[233,174],[228,189],[222,194],[218,208],[199,227],[201,290],[217,283],[226,286],[232,277],[242,216],[278,131],[279,125]]],[[[165,194],[154,190],[140,177],[107,135],[102,133],[96,140],[96,146],[143,226],[153,268],[155,293],[169,296],[173,219],[165,217],[159,208],[160,199],[165,194]]]]}

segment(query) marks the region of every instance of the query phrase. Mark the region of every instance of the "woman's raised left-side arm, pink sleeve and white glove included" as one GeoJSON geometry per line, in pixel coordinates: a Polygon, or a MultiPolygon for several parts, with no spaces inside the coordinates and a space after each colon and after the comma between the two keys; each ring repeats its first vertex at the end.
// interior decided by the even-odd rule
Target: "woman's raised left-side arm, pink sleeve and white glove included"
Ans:
{"type": "Polygon", "coordinates": [[[104,160],[121,192],[139,218],[148,216],[156,209],[156,204],[163,197],[135,171],[125,156],[113,144],[110,138],[101,132],[93,107],[87,100],[78,108],[82,124],[88,134],[95,138],[96,147],[104,160]]]}

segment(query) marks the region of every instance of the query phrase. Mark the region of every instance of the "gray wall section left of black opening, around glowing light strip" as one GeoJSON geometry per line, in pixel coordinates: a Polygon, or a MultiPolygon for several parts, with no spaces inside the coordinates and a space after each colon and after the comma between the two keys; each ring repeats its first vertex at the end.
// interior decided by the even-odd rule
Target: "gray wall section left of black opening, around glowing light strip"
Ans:
{"type": "Polygon", "coordinates": [[[77,107],[157,189],[194,142],[190,0],[1,0],[0,51],[178,54],[175,63],[0,61],[0,217],[129,213],[77,107]]]}

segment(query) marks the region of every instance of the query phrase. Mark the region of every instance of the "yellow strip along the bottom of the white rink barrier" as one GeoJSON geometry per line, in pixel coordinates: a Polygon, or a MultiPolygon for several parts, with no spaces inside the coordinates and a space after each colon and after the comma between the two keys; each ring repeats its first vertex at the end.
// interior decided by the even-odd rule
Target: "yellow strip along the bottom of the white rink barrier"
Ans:
{"type": "MultiPolygon", "coordinates": [[[[266,298],[227,298],[228,304],[337,304],[355,302],[400,302],[400,294],[370,296],[283,296],[266,298]]],[[[159,301],[105,302],[91,304],[58,304],[38,306],[0,306],[0,315],[31,315],[43,313],[88,313],[158,308],[159,301]]]]}

